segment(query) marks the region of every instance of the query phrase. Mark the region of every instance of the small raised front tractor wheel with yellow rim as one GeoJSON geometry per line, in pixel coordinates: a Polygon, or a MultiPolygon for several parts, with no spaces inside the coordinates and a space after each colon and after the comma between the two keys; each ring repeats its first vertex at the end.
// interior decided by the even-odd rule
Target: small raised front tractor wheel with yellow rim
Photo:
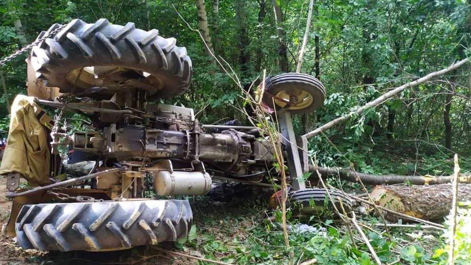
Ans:
{"type": "Polygon", "coordinates": [[[300,73],[285,73],[270,78],[266,83],[263,102],[279,111],[291,114],[310,113],[320,108],[325,100],[324,85],[315,77],[300,73]]]}

